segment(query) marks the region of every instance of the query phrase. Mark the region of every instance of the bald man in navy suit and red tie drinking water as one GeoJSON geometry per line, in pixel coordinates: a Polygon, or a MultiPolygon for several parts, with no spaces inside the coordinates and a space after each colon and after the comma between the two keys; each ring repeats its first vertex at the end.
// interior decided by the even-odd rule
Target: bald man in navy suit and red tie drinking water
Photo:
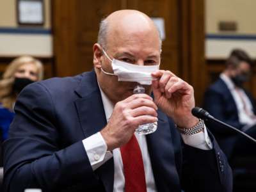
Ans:
{"type": "Polygon", "coordinates": [[[5,190],[232,191],[225,155],[191,115],[188,83],[156,70],[147,77],[152,86],[133,95],[160,54],[152,20],[121,10],[100,24],[92,72],[25,88],[4,143],[5,190]],[[138,125],[156,122],[156,132],[134,134],[138,125]]]}

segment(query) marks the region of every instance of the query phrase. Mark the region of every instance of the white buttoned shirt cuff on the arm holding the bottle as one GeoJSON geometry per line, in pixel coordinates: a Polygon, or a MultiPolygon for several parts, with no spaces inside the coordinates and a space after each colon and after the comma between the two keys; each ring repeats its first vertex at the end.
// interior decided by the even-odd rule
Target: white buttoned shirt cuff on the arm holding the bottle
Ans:
{"type": "Polygon", "coordinates": [[[83,145],[93,171],[113,157],[112,153],[107,151],[108,147],[100,132],[84,139],[83,145]]]}

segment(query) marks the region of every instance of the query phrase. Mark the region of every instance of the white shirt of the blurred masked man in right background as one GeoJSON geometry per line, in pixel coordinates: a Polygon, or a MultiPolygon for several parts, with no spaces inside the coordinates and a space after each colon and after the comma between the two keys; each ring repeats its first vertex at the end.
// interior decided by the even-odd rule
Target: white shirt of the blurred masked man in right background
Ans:
{"type": "Polygon", "coordinates": [[[231,81],[231,79],[225,74],[220,74],[220,78],[224,81],[225,84],[227,84],[228,90],[230,91],[232,97],[236,102],[239,122],[245,125],[255,124],[256,121],[252,118],[253,106],[252,103],[250,102],[250,99],[247,97],[246,93],[244,93],[244,90],[239,87],[236,87],[235,84],[231,81]],[[238,92],[240,92],[240,95],[238,92]],[[243,100],[241,97],[243,97],[243,100]],[[251,113],[252,116],[248,115],[248,111],[244,110],[245,108],[248,109],[249,113],[251,113]]]}

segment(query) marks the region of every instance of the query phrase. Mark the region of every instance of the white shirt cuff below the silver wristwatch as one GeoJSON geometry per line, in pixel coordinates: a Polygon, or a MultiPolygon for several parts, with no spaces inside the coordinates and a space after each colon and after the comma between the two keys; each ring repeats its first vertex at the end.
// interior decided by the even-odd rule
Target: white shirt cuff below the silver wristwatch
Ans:
{"type": "Polygon", "coordinates": [[[211,150],[212,141],[209,138],[206,126],[204,125],[204,132],[200,131],[196,134],[186,135],[181,134],[181,137],[187,145],[191,147],[200,148],[202,150],[211,150]]]}

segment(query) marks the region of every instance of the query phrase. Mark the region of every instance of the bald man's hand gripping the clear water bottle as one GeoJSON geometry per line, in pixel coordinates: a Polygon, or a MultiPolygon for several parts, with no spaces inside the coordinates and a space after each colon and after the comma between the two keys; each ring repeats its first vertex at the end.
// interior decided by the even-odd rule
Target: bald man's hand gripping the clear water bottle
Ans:
{"type": "Polygon", "coordinates": [[[127,143],[139,125],[157,122],[157,106],[147,94],[131,95],[117,102],[108,125],[100,133],[108,150],[127,143]]]}

